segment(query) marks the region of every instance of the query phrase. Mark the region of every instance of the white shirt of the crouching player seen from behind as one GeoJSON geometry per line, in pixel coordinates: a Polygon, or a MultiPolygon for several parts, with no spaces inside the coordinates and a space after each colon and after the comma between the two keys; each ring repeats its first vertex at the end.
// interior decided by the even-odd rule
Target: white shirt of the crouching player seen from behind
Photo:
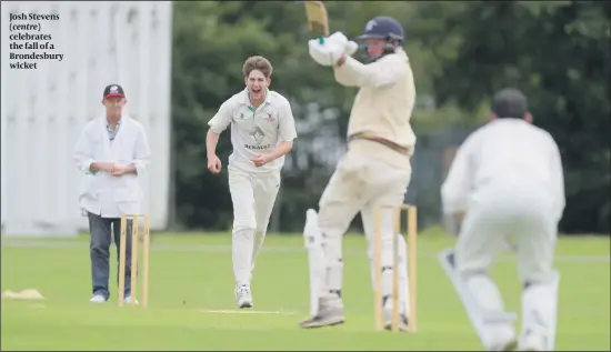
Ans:
{"type": "Polygon", "coordinates": [[[564,177],[558,144],[524,120],[498,119],[467,138],[441,188],[444,212],[467,211],[470,198],[492,182],[534,185],[552,199],[554,217],[562,217],[564,177]]]}

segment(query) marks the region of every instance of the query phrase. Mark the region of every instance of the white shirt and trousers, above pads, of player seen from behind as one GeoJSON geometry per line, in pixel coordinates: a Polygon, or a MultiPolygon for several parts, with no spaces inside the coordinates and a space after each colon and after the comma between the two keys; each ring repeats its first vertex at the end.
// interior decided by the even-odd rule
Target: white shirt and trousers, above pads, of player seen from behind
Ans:
{"type": "Polygon", "coordinates": [[[459,148],[441,195],[445,213],[467,213],[455,248],[460,272],[487,271],[503,238],[517,235],[522,280],[549,278],[564,179],[548,132],[518,119],[485,124],[459,148]]]}

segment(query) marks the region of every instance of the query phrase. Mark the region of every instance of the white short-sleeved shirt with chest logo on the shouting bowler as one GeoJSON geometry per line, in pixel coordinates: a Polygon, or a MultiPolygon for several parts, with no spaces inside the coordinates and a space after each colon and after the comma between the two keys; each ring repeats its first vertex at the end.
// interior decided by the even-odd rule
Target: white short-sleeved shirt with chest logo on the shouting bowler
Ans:
{"type": "Polygon", "coordinates": [[[282,169],[284,157],[257,168],[254,157],[272,151],[282,141],[297,138],[291,105],[287,98],[268,90],[266,100],[254,109],[248,98],[248,88],[221,104],[208,125],[220,134],[231,124],[233,152],[229,164],[248,172],[267,172],[282,169]]]}

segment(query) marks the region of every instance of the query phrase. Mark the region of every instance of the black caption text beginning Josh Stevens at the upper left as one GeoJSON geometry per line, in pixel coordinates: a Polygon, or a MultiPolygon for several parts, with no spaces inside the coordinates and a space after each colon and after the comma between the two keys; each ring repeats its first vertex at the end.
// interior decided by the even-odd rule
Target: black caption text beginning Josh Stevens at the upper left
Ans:
{"type": "Polygon", "coordinates": [[[9,17],[11,69],[38,69],[40,61],[61,61],[63,54],[56,52],[51,33],[43,32],[49,21],[59,21],[59,14],[10,13],[9,17]]]}

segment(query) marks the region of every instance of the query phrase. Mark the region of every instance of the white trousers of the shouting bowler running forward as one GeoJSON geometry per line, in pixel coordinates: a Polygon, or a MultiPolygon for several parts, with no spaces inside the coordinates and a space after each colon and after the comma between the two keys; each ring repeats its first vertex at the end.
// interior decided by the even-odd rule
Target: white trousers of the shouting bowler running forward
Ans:
{"type": "Polygon", "coordinates": [[[233,275],[238,284],[250,284],[280,189],[280,171],[256,173],[232,165],[228,171],[233,202],[233,275]]]}

